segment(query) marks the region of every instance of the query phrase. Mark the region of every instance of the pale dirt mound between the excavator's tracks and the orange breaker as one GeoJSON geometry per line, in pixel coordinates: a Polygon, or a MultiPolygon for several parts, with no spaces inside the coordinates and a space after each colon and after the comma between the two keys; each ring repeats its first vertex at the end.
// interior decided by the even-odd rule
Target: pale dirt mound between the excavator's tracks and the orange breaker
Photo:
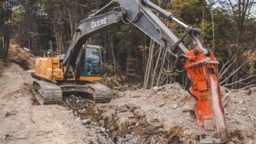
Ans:
{"type": "MultiPolygon", "coordinates": [[[[134,134],[137,143],[192,143],[198,139],[194,99],[179,84],[119,92],[110,105],[93,107],[113,137],[134,134]]],[[[92,114],[93,115],[93,114],[92,114]]]]}

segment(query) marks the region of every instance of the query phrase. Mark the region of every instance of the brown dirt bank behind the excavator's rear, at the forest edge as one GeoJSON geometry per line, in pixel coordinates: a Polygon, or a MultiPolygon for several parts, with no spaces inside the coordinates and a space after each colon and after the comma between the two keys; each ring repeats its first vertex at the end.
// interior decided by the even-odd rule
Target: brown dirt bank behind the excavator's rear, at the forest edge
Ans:
{"type": "Polygon", "coordinates": [[[13,39],[10,42],[9,49],[9,60],[11,62],[17,63],[24,70],[34,69],[35,56],[30,54],[27,50],[15,43],[13,39]]]}

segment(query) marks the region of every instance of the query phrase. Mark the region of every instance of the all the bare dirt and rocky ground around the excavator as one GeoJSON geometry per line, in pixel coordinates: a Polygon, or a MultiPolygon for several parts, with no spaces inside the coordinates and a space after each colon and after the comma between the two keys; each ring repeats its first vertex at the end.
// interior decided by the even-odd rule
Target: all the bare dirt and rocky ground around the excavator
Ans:
{"type": "MultiPolygon", "coordinates": [[[[117,88],[106,104],[65,94],[64,105],[36,105],[24,71],[35,57],[11,46],[12,62],[23,69],[9,62],[0,76],[0,143],[199,143],[195,100],[179,84],[117,88]]],[[[223,96],[228,143],[256,143],[256,88],[223,96]]]]}

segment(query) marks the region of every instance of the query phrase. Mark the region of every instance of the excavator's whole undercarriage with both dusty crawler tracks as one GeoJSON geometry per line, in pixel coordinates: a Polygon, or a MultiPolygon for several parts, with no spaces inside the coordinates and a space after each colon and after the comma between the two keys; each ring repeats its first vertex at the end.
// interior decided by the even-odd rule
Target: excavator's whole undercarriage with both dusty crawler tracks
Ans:
{"type": "Polygon", "coordinates": [[[63,93],[80,93],[91,103],[108,103],[112,100],[110,88],[94,81],[34,81],[33,94],[41,105],[62,105],[63,93]]]}

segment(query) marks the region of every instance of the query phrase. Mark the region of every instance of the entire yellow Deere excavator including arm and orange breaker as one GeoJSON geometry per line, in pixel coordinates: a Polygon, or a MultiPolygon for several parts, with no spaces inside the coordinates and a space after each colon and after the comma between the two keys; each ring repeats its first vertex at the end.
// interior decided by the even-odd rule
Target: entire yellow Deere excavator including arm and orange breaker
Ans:
{"type": "Polygon", "coordinates": [[[194,111],[202,133],[200,142],[228,141],[221,105],[219,62],[203,46],[198,29],[182,23],[150,0],[112,0],[77,25],[64,56],[53,57],[51,54],[49,58],[37,58],[33,73],[37,81],[33,82],[33,92],[39,103],[62,104],[62,94],[65,92],[83,93],[93,103],[112,100],[110,88],[98,82],[102,73],[102,47],[85,43],[95,33],[116,27],[117,24],[132,24],[177,58],[175,64],[170,65],[171,69],[165,69],[162,64],[165,73],[188,72],[190,82],[186,89],[196,99],[194,111]],[[110,7],[117,4],[119,7],[108,12],[110,7]],[[181,37],[178,38],[165,26],[154,12],[184,28],[181,37]],[[178,67],[179,63],[182,65],[178,67]]]}

